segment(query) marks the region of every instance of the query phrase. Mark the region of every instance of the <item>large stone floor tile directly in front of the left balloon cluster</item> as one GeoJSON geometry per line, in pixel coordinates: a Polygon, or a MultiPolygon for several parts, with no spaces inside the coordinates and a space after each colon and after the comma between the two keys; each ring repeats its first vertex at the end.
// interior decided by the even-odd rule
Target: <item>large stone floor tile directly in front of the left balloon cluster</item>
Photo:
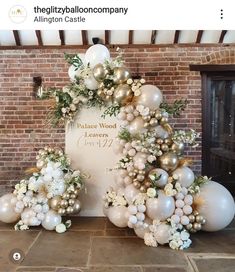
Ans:
{"type": "Polygon", "coordinates": [[[68,231],[63,234],[45,231],[30,250],[23,266],[78,267],[86,265],[90,249],[90,234],[68,231]]]}

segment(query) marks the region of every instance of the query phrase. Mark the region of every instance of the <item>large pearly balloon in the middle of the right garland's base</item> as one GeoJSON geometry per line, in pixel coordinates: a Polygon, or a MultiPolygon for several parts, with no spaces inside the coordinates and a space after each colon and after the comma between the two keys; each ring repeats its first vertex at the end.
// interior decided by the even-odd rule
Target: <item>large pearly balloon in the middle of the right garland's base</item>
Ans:
{"type": "Polygon", "coordinates": [[[164,191],[158,191],[157,198],[149,198],[146,201],[146,213],[151,219],[166,220],[175,210],[175,201],[171,196],[165,195],[164,191]]]}

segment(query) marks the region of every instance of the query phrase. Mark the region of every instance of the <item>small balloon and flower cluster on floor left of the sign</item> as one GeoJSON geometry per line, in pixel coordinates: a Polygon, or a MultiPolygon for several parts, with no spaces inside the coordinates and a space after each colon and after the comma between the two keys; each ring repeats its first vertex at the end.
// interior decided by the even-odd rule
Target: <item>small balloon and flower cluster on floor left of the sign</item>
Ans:
{"type": "Polygon", "coordinates": [[[70,168],[70,160],[60,149],[45,147],[36,157],[35,168],[15,185],[13,193],[0,198],[0,221],[14,223],[16,230],[42,225],[61,233],[71,221],[62,216],[79,213],[78,194],[83,188],[83,175],[70,168]]]}

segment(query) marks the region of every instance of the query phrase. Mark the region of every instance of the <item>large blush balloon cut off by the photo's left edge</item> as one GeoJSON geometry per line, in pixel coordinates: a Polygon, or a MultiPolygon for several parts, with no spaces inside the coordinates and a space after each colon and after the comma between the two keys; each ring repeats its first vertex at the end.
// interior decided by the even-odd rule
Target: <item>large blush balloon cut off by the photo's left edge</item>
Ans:
{"type": "Polygon", "coordinates": [[[20,214],[15,212],[14,203],[16,197],[13,194],[6,194],[0,198],[0,221],[4,223],[14,223],[20,218],[20,214]]]}

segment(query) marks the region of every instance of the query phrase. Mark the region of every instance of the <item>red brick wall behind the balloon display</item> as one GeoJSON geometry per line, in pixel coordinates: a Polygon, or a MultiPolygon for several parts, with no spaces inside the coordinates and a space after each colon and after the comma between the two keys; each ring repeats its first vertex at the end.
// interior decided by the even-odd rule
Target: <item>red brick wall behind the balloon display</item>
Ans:
{"type": "MultiPolygon", "coordinates": [[[[36,100],[32,79],[42,76],[46,86],[69,82],[64,49],[0,51],[0,195],[33,166],[35,154],[45,145],[64,147],[64,130],[52,129],[45,120],[49,101],[36,100]]],[[[67,53],[78,50],[68,49],[67,53]]],[[[85,50],[79,50],[83,53],[85,50]]],[[[115,54],[115,53],[114,53],[115,54]]],[[[189,64],[235,63],[235,47],[157,47],[128,48],[124,57],[133,73],[157,85],[165,99],[187,98],[190,105],[181,118],[172,120],[175,128],[194,128],[201,132],[201,81],[189,64]]],[[[187,150],[194,159],[194,170],[201,167],[201,144],[187,150]]]]}

